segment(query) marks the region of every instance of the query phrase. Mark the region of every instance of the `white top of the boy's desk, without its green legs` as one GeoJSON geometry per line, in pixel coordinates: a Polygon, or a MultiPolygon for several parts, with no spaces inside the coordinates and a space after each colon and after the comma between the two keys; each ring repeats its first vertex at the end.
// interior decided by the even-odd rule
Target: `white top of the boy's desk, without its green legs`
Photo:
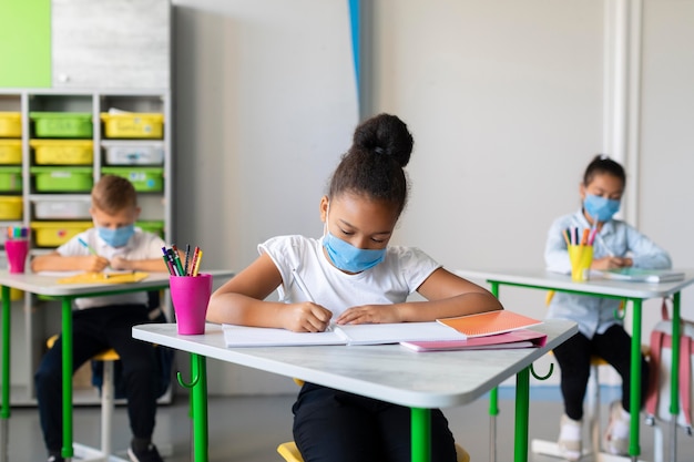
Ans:
{"type": "MultiPolygon", "coordinates": [[[[204,271],[220,278],[231,278],[234,271],[216,269],[204,271]]],[[[59,276],[44,276],[35,273],[10,274],[6,269],[0,270],[0,286],[8,286],[31,294],[53,297],[64,296],[94,296],[112,291],[147,290],[169,287],[169,273],[150,273],[137,283],[129,284],[58,284],[59,276]]]]}

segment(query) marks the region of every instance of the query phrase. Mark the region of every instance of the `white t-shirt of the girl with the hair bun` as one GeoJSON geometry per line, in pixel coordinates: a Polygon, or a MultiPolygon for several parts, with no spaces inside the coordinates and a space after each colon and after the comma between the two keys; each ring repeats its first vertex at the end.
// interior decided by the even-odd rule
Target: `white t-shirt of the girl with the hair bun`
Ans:
{"type": "Polygon", "coordinates": [[[277,289],[284,302],[309,301],[294,280],[296,269],[314,298],[339,316],[347,308],[360,305],[386,305],[406,301],[407,297],[440,268],[427,254],[416,247],[390,246],[386,258],[375,267],[348,275],[334,267],[323,251],[323,238],[278,236],[258,245],[282,275],[277,289]]]}

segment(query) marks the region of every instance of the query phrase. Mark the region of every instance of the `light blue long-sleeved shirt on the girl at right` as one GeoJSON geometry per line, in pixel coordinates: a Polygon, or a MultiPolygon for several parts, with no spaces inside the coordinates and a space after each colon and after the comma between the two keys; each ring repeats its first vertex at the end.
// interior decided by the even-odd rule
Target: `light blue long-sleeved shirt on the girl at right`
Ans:
{"type": "MultiPolygon", "coordinates": [[[[573,226],[578,226],[579,229],[590,227],[583,211],[564,215],[552,223],[544,247],[548,270],[571,273],[569,251],[562,233],[573,226]]],[[[667,269],[672,266],[667,251],[633,226],[619,219],[606,222],[593,243],[593,258],[608,256],[630,257],[634,268],[667,269]]],[[[557,292],[547,317],[573,320],[579,324],[579,331],[591,339],[595,333],[604,333],[610,326],[621,324],[621,320],[614,317],[619,307],[620,300],[557,292]]]]}

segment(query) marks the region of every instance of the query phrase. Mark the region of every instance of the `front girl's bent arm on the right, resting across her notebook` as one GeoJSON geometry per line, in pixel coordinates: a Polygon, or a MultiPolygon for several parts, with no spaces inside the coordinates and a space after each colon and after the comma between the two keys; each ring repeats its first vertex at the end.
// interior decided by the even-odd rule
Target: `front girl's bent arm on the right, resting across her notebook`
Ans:
{"type": "Polygon", "coordinates": [[[438,268],[417,291],[426,301],[365,305],[343,312],[337,324],[418,322],[503,309],[489,290],[438,268]]]}

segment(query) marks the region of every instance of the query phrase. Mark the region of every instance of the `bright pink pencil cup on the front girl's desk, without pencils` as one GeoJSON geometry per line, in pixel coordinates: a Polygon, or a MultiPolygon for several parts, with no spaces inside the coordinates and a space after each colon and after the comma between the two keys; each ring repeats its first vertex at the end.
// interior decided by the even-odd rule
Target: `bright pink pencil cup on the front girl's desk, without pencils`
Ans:
{"type": "Polygon", "coordinates": [[[212,275],[171,276],[171,300],[182,336],[205,333],[205,316],[212,296],[212,275]]]}

